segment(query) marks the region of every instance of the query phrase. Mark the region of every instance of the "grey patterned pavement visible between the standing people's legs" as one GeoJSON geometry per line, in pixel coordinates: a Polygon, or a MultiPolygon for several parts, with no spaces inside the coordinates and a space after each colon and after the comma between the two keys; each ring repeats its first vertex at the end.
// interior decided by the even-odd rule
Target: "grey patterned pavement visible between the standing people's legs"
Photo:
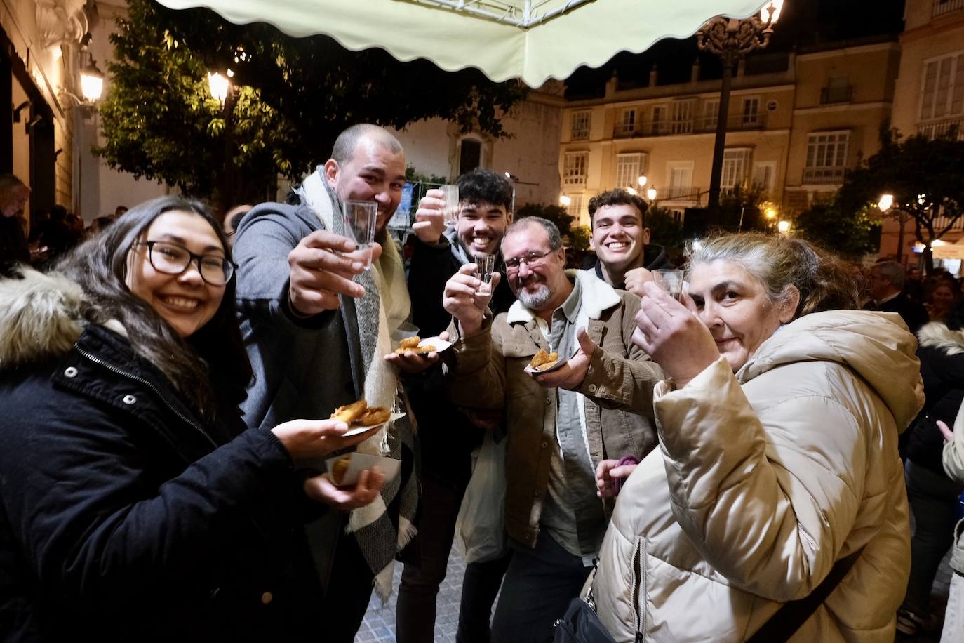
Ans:
{"type": "MultiPolygon", "coordinates": [[[[459,603],[462,600],[462,576],[466,574],[466,563],[458,546],[453,546],[448,555],[448,571],[439,588],[436,606],[435,641],[436,643],[455,643],[455,630],[459,626],[459,603]]],[[[388,604],[372,594],[365,612],[362,629],[355,636],[356,643],[385,643],[395,640],[395,602],[398,599],[398,581],[402,576],[402,564],[395,562],[395,577],[392,580],[395,591],[388,604]]]]}

